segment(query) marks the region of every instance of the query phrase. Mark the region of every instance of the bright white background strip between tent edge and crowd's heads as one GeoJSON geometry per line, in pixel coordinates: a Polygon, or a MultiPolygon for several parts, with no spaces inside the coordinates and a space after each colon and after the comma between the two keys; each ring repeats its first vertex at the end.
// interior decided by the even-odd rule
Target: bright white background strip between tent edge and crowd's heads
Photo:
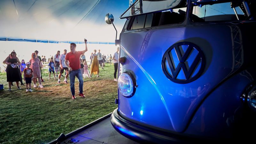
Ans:
{"type": "MultiPolygon", "coordinates": [[[[17,41],[0,41],[1,49],[0,49],[0,57],[2,70],[4,69],[3,61],[8,57],[9,54],[13,50],[17,53],[17,57],[21,60],[25,60],[28,62],[31,59],[31,54],[38,51],[38,55],[41,57],[45,56],[46,60],[51,56],[54,56],[57,51],[60,51],[60,54],[63,53],[64,49],[67,52],[70,52],[70,44],[67,43],[33,43],[33,42],[17,42],[17,41]]],[[[112,55],[116,52],[117,46],[115,44],[87,44],[88,51],[84,53],[86,61],[90,60],[91,53],[94,49],[97,50],[98,53],[100,49],[100,53],[103,55],[112,55]]],[[[85,49],[85,44],[76,44],[76,51],[82,51],[85,49]]],[[[94,53],[94,52],[93,52],[94,53]]]]}

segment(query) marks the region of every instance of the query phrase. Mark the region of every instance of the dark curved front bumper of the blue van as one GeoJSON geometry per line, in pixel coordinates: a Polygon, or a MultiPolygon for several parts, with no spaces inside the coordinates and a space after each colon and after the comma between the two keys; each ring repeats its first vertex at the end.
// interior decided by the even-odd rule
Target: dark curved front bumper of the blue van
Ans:
{"type": "Polygon", "coordinates": [[[113,111],[110,121],[117,132],[121,133],[122,135],[131,140],[140,143],[195,143],[197,141],[202,142],[202,140],[191,138],[188,136],[168,132],[160,132],[147,127],[143,127],[139,124],[132,123],[128,120],[125,120],[119,115],[118,108],[113,111]]]}

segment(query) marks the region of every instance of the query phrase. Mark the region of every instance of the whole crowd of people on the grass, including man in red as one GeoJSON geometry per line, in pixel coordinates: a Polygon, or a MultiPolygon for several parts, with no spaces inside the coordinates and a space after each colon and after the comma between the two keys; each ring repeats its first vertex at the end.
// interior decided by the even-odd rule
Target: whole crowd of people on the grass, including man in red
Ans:
{"type": "MultiPolygon", "coordinates": [[[[117,48],[117,51],[114,53],[113,58],[110,54],[110,56],[102,55],[99,52],[94,50],[94,53],[91,53],[90,56],[90,65],[87,65],[86,58],[84,56],[84,53],[87,52],[87,40],[84,39],[85,42],[85,49],[83,51],[76,51],[76,44],[71,43],[70,44],[70,52],[67,53],[67,50],[65,49],[62,54],[60,54],[60,51],[58,51],[54,56],[48,59],[48,68],[49,68],[49,80],[51,79],[51,73],[54,76],[54,80],[58,78],[58,84],[60,84],[60,78],[63,76],[62,74],[65,71],[65,78],[64,83],[68,83],[68,76],[70,79],[70,90],[72,94],[72,99],[76,99],[75,97],[75,77],[78,78],[79,82],[79,96],[85,97],[83,94],[83,78],[91,78],[92,74],[97,75],[99,77],[99,68],[104,69],[104,66],[106,64],[106,60],[109,59],[108,62],[110,62],[110,65],[114,63],[114,81],[117,81],[116,79],[116,72],[118,67],[118,51],[119,47],[117,48]],[[90,71],[89,71],[90,68],[90,71]],[[60,72],[58,74],[58,72],[60,72]],[[55,75],[56,73],[56,75],[55,75]],[[56,78],[57,77],[57,78],[56,78]]],[[[32,92],[31,89],[31,83],[33,80],[34,88],[37,87],[36,83],[38,82],[39,88],[43,88],[42,82],[45,82],[42,78],[42,68],[43,63],[46,62],[45,56],[41,57],[38,55],[38,51],[36,50],[31,54],[31,59],[25,63],[25,60],[19,60],[18,57],[16,57],[16,52],[13,50],[11,54],[3,61],[4,64],[7,64],[6,67],[6,76],[7,76],[7,82],[8,82],[8,91],[12,91],[11,85],[13,82],[16,82],[17,89],[21,89],[19,86],[19,82],[21,85],[24,85],[22,82],[22,74],[23,74],[23,80],[26,82],[26,92],[32,92]],[[37,80],[38,79],[38,80],[37,80]]]]}

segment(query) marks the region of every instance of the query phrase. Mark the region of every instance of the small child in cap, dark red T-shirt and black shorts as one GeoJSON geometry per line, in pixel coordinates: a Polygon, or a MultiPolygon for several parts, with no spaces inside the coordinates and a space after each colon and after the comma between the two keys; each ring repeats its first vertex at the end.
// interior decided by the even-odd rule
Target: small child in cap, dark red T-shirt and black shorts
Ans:
{"type": "Polygon", "coordinates": [[[24,69],[24,81],[26,81],[26,92],[33,92],[31,90],[31,81],[33,77],[33,69],[30,68],[30,62],[26,63],[27,68],[24,69]],[[28,89],[29,86],[29,89],[28,89]]]}

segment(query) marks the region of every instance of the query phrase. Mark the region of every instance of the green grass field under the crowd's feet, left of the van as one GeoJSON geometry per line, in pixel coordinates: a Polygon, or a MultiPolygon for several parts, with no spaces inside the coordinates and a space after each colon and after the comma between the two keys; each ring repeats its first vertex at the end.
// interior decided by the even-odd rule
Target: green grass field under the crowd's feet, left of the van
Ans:
{"type": "Polygon", "coordinates": [[[86,78],[85,98],[78,96],[76,78],[75,100],[71,99],[70,85],[63,83],[63,77],[61,84],[57,84],[53,76],[48,80],[45,73],[44,88],[26,92],[25,86],[17,90],[13,83],[9,92],[6,73],[0,73],[0,83],[5,87],[0,90],[0,143],[47,143],[62,132],[66,134],[112,112],[117,108],[117,83],[113,81],[113,73],[112,65],[100,69],[99,78],[96,75],[86,78]]]}

